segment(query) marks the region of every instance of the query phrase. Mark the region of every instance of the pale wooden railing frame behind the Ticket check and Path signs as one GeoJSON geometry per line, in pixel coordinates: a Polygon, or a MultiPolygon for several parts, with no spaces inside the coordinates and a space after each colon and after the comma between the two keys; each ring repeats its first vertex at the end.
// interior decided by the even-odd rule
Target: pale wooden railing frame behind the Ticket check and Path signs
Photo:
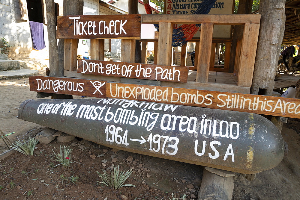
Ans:
{"type": "MultiPolygon", "coordinates": [[[[145,60],[146,54],[146,42],[155,42],[157,46],[157,52],[155,50],[155,63],[158,65],[171,65],[172,59],[172,30],[173,23],[186,23],[186,24],[201,24],[201,36],[197,41],[196,54],[195,54],[195,67],[190,69],[196,69],[195,72],[190,72],[191,76],[196,75],[195,80],[189,80],[187,83],[169,83],[161,82],[160,86],[173,86],[191,89],[206,89],[214,91],[227,91],[227,92],[237,92],[237,93],[250,93],[250,87],[252,84],[253,77],[253,67],[255,61],[255,52],[257,46],[257,38],[259,32],[260,15],[142,15],[142,23],[159,23],[160,31],[158,33],[158,39],[154,40],[140,40],[142,41],[142,52],[143,62],[145,60]],[[214,43],[228,43],[229,40],[213,40],[212,32],[213,25],[244,25],[243,42],[241,43],[241,53],[239,57],[238,66],[238,79],[237,82],[228,83],[209,83],[209,71],[211,68],[211,47],[214,43]]],[[[134,62],[135,53],[135,40],[126,39],[122,40],[122,62],[134,62]]],[[[78,74],[76,72],[76,46],[73,48],[72,40],[76,39],[66,39],[65,42],[65,63],[64,63],[64,76],[74,77],[74,78],[89,78],[98,79],[104,81],[114,81],[122,82],[121,78],[118,77],[102,77],[93,76],[86,74],[78,74]]],[[[101,40],[101,39],[93,39],[101,40]]],[[[195,39],[194,39],[195,40],[195,39]]],[[[196,39],[197,40],[197,39],[196,39]]],[[[97,43],[97,42],[96,42],[97,43]]],[[[94,54],[102,54],[104,49],[100,49],[97,45],[91,46],[91,59],[97,59],[94,54]]],[[[182,64],[183,66],[183,64],[182,64]]]]}

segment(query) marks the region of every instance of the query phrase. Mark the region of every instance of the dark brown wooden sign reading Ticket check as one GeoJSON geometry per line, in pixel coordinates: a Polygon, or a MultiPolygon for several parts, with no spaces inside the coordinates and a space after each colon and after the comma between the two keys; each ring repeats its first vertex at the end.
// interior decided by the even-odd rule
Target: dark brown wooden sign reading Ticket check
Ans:
{"type": "Polygon", "coordinates": [[[137,39],[141,37],[141,15],[76,15],[57,19],[56,38],[137,39]]]}

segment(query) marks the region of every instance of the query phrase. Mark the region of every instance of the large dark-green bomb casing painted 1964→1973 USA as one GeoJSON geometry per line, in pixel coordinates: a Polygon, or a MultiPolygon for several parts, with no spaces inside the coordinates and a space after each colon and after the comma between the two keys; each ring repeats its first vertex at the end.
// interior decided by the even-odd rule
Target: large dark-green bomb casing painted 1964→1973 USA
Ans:
{"type": "Polygon", "coordinates": [[[116,149],[240,173],[271,169],[284,154],[274,124],[252,113],[126,99],[34,99],[20,105],[18,117],[116,149]]]}

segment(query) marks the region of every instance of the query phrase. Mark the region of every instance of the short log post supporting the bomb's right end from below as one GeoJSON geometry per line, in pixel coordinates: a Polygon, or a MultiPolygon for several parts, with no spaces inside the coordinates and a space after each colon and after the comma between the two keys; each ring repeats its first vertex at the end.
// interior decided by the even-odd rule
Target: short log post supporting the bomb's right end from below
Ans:
{"type": "Polygon", "coordinates": [[[203,177],[198,200],[231,199],[234,172],[203,167],[203,177]]]}

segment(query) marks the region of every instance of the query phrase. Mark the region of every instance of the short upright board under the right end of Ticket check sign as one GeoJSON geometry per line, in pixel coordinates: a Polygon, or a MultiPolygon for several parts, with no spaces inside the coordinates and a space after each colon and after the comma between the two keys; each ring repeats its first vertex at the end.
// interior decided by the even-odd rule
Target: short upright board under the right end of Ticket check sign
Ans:
{"type": "Polygon", "coordinates": [[[136,40],[122,40],[121,61],[127,63],[135,62],[135,41],[136,40]]]}

